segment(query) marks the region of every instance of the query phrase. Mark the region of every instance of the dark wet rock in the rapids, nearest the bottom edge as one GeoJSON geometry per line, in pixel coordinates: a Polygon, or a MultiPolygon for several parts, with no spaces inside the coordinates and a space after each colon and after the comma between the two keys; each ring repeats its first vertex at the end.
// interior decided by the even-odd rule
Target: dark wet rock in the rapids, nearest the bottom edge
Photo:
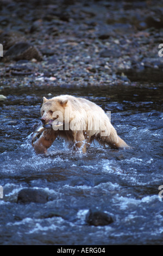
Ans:
{"type": "Polygon", "coordinates": [[[108,225],[113,222],[112,217],[108,214],[105,214],[105,212],[102,211],[92,211],[89,210],[89,212],[86,215],[86,222],[89,225],[108,225]]]}

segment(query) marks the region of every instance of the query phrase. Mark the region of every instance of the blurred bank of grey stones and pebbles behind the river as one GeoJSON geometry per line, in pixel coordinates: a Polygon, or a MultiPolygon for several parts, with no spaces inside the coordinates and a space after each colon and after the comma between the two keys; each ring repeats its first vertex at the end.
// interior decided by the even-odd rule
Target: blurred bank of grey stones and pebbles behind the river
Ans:
{"type": "Polygon", "coordinates": [[[163,1],[8,0],[0,11],[2,94],[42,86],[162,87],[163,1]]]}

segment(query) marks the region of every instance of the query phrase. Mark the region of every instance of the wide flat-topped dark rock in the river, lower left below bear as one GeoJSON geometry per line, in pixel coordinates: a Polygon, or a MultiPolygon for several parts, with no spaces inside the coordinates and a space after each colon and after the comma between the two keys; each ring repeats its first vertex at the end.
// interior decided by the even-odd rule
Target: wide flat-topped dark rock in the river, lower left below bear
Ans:
{"type": "Polygon", "coordinates": [[[44,204],[48,201],[48,194],[42,190],[34,188],[23,188],[18,192],[17,203],[41,203],[44,204]]]}

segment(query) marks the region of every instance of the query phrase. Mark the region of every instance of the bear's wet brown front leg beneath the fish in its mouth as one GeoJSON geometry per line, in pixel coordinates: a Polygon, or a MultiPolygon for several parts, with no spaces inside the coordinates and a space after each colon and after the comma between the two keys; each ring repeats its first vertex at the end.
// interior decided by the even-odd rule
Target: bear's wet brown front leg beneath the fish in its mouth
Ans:
{"type": "Polygon", "coordinates": [[[51,147],[52,143],[57,138],[57,132],[54,130],[43,131],[39,139],[34,143],[33,147],[36,154],[46,154],[47,149],[51,147]]]}

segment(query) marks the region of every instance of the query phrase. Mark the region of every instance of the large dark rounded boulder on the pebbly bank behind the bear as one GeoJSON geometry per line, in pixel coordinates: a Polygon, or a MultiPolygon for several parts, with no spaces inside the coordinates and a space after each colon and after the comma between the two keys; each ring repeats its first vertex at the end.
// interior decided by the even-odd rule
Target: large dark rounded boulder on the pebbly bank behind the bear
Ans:
{"type": "Polygon", "coordinates": [[[35,46],[29,44],[28,42],[18,42],[17,44],[11,46],[4,54],[5,62],[21,59],[36,59],[40,61],[42,60],[42,54],[35,46]]]}

